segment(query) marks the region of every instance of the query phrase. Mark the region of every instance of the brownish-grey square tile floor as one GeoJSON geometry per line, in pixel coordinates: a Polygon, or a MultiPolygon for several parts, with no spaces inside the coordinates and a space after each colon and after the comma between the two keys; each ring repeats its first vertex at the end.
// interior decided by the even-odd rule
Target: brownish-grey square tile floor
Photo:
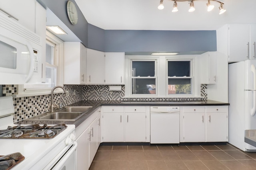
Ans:
{"type": "Polygon", "coordinates": [[[256,152],[230,144],[100,146],[89,170],[256,170],[256,152]]]}

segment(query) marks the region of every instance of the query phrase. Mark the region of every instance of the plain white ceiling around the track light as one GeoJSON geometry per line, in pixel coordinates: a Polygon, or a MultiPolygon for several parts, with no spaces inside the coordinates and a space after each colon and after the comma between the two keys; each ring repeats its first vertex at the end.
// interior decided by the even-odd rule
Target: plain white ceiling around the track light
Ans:
{"type": "Polygon", "coordinates": [[[256,23],[256,0],[219,0],[227,10],[219,15],[219,3],[207,12],[207,0],[196,0],[196,10],[188,12],[188,2],[177,2],[179,11],[172,12],[173,1],[164,0],[75,0],[88,23],[102,29],[131,30],[216,30],[226,23],[256,23]]]}

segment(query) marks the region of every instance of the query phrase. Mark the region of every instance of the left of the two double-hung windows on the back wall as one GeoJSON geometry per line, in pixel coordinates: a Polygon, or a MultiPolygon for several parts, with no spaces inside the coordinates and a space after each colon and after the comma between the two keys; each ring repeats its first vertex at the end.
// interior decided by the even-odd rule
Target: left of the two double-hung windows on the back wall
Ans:
{"type": "Polygon", "coordinates": [[[132,60],[132,95],[156,94],[156,60],[132,60]]]}

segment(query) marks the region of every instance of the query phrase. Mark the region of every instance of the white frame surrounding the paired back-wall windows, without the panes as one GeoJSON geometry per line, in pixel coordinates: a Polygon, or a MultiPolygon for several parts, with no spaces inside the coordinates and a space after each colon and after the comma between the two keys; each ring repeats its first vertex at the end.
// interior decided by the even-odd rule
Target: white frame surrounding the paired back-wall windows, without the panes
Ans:
{"type": "MultiPolygon", "coordinates": [[[[200,96],[199,76],[197,75],[198,55],[126,55],[125,56],[125,96],[123,98],[198,98],[200,96]],[[131,60],[156,60],[156,94],[132,94],[131,60]],[[192,94],[168,94],[168,60],[190,61],[190,77],[192,77],[192,94]],[[160,83],[161,82],[161,83],[160,83]]],[[[188,78],[188,77],[186,77],[188,78]]]]}

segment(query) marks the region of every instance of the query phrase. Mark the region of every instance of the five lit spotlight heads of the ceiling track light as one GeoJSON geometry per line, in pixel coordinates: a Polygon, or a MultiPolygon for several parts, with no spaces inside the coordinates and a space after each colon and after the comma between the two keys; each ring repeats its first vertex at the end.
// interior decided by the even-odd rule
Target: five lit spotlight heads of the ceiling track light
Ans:
{"type": "MultiPolygon", "coordinates": [[[[164,0],[160,0],[160,4],[158,6],[159,10],[164,9],[163,1],[164,0]]],[[[188,1],[189,2],[188,4],[190,5],[188,12],[194,12],[194,10],[195,10],[194,1],[196,1],[196,0],[171,0],[171,1],[174,1],[172,12],[177,12],[178,11],[178,4],[177,4],[177,2],[185,2],[185,1],[188,1]]],[[[219,0],[207,0],[207,1],[208,1],[208,3],[206,3],[206,6],[207,6],[207,11],[208,12],[212,11],[213,8],[214,8],[214,5],[212,5],[210,3],[210,1],[214,1],[214,2],[220,3],[220,7],[219,7],[220,13],[219,14],[223,14],[224,12],[226,12],[226,10],[223,8],[224,3],[220,2],[219,0]]]]}

